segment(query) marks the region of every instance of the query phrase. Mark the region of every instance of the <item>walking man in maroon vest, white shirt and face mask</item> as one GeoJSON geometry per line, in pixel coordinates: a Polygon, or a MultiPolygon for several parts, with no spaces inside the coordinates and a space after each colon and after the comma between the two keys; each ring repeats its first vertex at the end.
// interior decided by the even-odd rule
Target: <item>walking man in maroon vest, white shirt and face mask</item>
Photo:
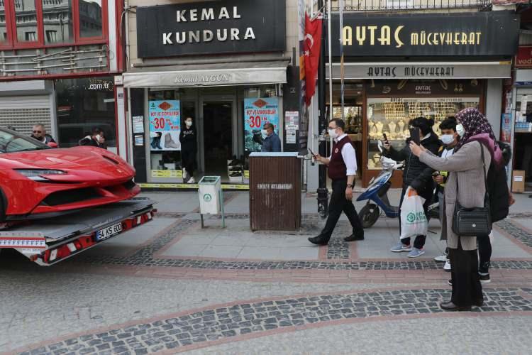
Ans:
{"type": "Polygon", "coordinates": [[[320,235],[309,238],[309,241],[313,244],[328,244],[342,211],[348,217],[351,226],[353,226],[353,234],[345,237],[344,240],[364,240],[362,223],[360,223],[355,206],[351,202],[353,200],[353,184],[357,173],[357,157],[349,136],[343,132],[344,127],[345,123],[341,119],[331,119],[328,133],[334,139],[333,153],[329,158],[323,158],[319,154],[314,157],[317,161],[328,165],[328,175],[333,180],[333,194],[329,203],[329,217],[325,228],[323,228],[320,235]]]}

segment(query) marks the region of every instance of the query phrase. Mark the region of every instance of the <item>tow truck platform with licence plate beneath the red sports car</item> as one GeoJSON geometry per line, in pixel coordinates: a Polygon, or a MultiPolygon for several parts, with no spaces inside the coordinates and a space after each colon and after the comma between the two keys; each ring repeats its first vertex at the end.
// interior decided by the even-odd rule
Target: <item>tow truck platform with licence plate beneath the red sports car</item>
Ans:
{"type": "Polygon", "coordinates": [[[0,249],[15,249],[40,266],[51,266],[145,224],[157,210],[153,200],[135,197],[0,230],[0,249]]]}

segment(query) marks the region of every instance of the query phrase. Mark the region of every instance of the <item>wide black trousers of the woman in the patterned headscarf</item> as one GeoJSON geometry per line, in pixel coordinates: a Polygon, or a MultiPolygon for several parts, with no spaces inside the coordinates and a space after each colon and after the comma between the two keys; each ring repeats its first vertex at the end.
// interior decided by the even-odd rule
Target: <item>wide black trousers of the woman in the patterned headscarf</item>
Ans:
{"type": "Polygon", "coordinates": [[[460,307],[472,306],[482,300],[482,285],[478,277],[478,256],[476,250],[463,250],[458,242],[458,249],[449,248],[450,271],[453,280],[451,302],[460,307]]]}

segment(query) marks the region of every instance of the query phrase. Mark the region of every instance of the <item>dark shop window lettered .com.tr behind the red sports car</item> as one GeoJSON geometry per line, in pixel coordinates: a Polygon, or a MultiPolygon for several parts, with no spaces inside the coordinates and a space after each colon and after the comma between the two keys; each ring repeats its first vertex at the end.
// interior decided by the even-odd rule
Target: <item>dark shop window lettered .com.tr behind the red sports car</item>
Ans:
{"type": "Polygon", "coordinates": [[[111,151],[116,148],[113,77],[57,80],[55,92],[60,146],[77,146],[98,127],[111,151]]]}

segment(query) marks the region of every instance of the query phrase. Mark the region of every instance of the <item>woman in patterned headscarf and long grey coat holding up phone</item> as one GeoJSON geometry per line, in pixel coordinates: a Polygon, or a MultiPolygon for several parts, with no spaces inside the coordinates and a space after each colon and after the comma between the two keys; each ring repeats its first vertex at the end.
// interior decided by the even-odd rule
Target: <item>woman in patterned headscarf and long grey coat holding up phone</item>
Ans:
{"type": "MultiPolygon", "coordinates": [[[[447,236],[453,295],[449,302],[442,302],[443,310],[470,310],[480,307],[484,300],[480,284],[477,258],[477,236],[458,236],[453,232],[455,202],[462,207],[484,207],[484,167],[487,173],[491,163],[501,165],[502,154],[495,142],[492,126],[477,109],[463,109],[456,115],[456,132],[460,135],[455,153],[439,158],[423,146],[411,142],[411,151],[419,160],[435,170],[449,172],[445,185],[443,233],[447,236]],[[484,161],[482,161],[482,151],[484,161]]],[[[487,238],[487,236],[479,236],[487,238]]]]}

